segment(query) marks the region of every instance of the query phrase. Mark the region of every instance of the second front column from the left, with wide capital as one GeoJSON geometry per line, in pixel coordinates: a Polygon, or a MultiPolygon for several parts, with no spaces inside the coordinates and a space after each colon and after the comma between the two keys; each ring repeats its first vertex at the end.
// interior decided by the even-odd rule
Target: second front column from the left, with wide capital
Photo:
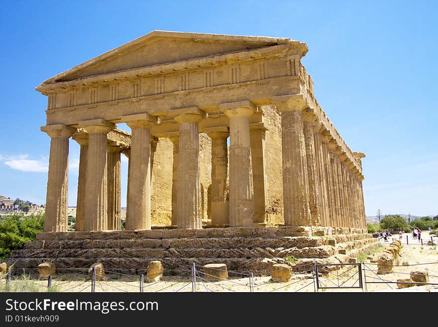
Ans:
{"type": "Polygon", "coordinates": [[[104,119],[79,123],[89,134],[84,230],[108,228],[107,134],[115,127],[104,119]]]}

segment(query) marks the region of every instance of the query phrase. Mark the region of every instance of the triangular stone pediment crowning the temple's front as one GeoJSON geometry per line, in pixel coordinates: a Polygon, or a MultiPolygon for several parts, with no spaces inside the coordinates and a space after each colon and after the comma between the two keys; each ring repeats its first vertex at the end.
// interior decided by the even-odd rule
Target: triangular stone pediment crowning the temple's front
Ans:
{"type": "Polygon", "coordinates": [[[279,38],[152,31],[43,82],[72,81],[90,76],[168,64],[230,52],[277,45],[279,38]]]}

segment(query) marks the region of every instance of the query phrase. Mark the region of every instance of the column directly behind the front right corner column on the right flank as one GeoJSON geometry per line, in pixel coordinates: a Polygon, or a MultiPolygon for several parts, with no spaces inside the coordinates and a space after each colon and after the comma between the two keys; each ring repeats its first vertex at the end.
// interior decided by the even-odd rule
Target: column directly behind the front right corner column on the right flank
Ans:
{"type": "Polygon", "coordinates": [[[306,143],[306,161],[307,176],[309,183],[309,207],[312,217],[312,225],[321,225],[320,204],[319,204],[319,187],[317,163],[315,155],[315,141],[313,124],[317,119],[316,115],[311,112],[303,112],[304,141],[306,143]]]}

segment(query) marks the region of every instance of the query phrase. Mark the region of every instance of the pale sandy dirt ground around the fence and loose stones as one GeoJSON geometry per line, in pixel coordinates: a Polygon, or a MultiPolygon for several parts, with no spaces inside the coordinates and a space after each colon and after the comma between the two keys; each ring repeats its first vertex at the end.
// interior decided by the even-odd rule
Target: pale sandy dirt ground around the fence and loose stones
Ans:
{"type": "MultiPolygon", "coordinates": [[[[395,282],[399,278],[409,278],[414,269],[425,269],[429,273],[429,283],[438,284],[438,252],[436,245],[427,245],[431,236],[427,231],[422,233],[423,245],[419,240],[413,239],[412,235],[402,235],[402,249],[399,257],[399,265],[393,267],[393,272],[385,275],[377,275],[377,264],[365,260],[362,265],[363,288],[360,288],[358,268],[353,265],[336,266],[334,270],[319,267],[318,282],[313,274],[300,273],[293,275],[288,282],[274,283],[270,276],[254,276],[253,292],[438,292],[438,285],[423,285],[399,289],[395,282]],[[321,273],[322,272],[322,273],[321,273]],[[335,288],[318,288],[335,287],[335,288]],[[355,288],[337,288],[353,286],[355,288]]],[[[398,239],[398,235],[392,236],[398,239]]],[[[387,242],[380,239],[382,251],[385,246],[392,242],[390,237],[387,242]]],[[[434,243],[438,237],[434,238],[434,243]]],[[[377,256],[379,252],[369,253],[377,256]]],[[[202,267],[197,267],[196,284],[193,285],[191,271],[187,270],[181,276],[164,276],[163,280],[156,283],[144,282],[144,292],[250,292],[249,275],[237,272],[228,272],[228,280],[220,282],[208,282],[202,267]]],[[[107,272],[106,278],[96,283],[96,292],[140,292],[139,276],[129,276],[107,272]]],[[[1,280],[0,290],[4,290],[5,280],[1,280]]],[[[87,275],[56,275],[52,281],[54,292],[91,292],[91,281],[87,275]]],[[[47,291],[47,280],[12,279],[9,291],[12,292],[37,292],[47,291]]]]}

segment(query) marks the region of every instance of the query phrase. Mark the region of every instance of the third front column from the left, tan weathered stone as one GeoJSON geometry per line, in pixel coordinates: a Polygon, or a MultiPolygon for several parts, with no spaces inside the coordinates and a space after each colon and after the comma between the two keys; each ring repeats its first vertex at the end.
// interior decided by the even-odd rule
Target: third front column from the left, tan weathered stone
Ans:
{"type": "Polygon", "coordinates": [[[157,118],[139,113],[121,120],[131,127],[125,229],[151,229],[150,128],[157,118]]]}

